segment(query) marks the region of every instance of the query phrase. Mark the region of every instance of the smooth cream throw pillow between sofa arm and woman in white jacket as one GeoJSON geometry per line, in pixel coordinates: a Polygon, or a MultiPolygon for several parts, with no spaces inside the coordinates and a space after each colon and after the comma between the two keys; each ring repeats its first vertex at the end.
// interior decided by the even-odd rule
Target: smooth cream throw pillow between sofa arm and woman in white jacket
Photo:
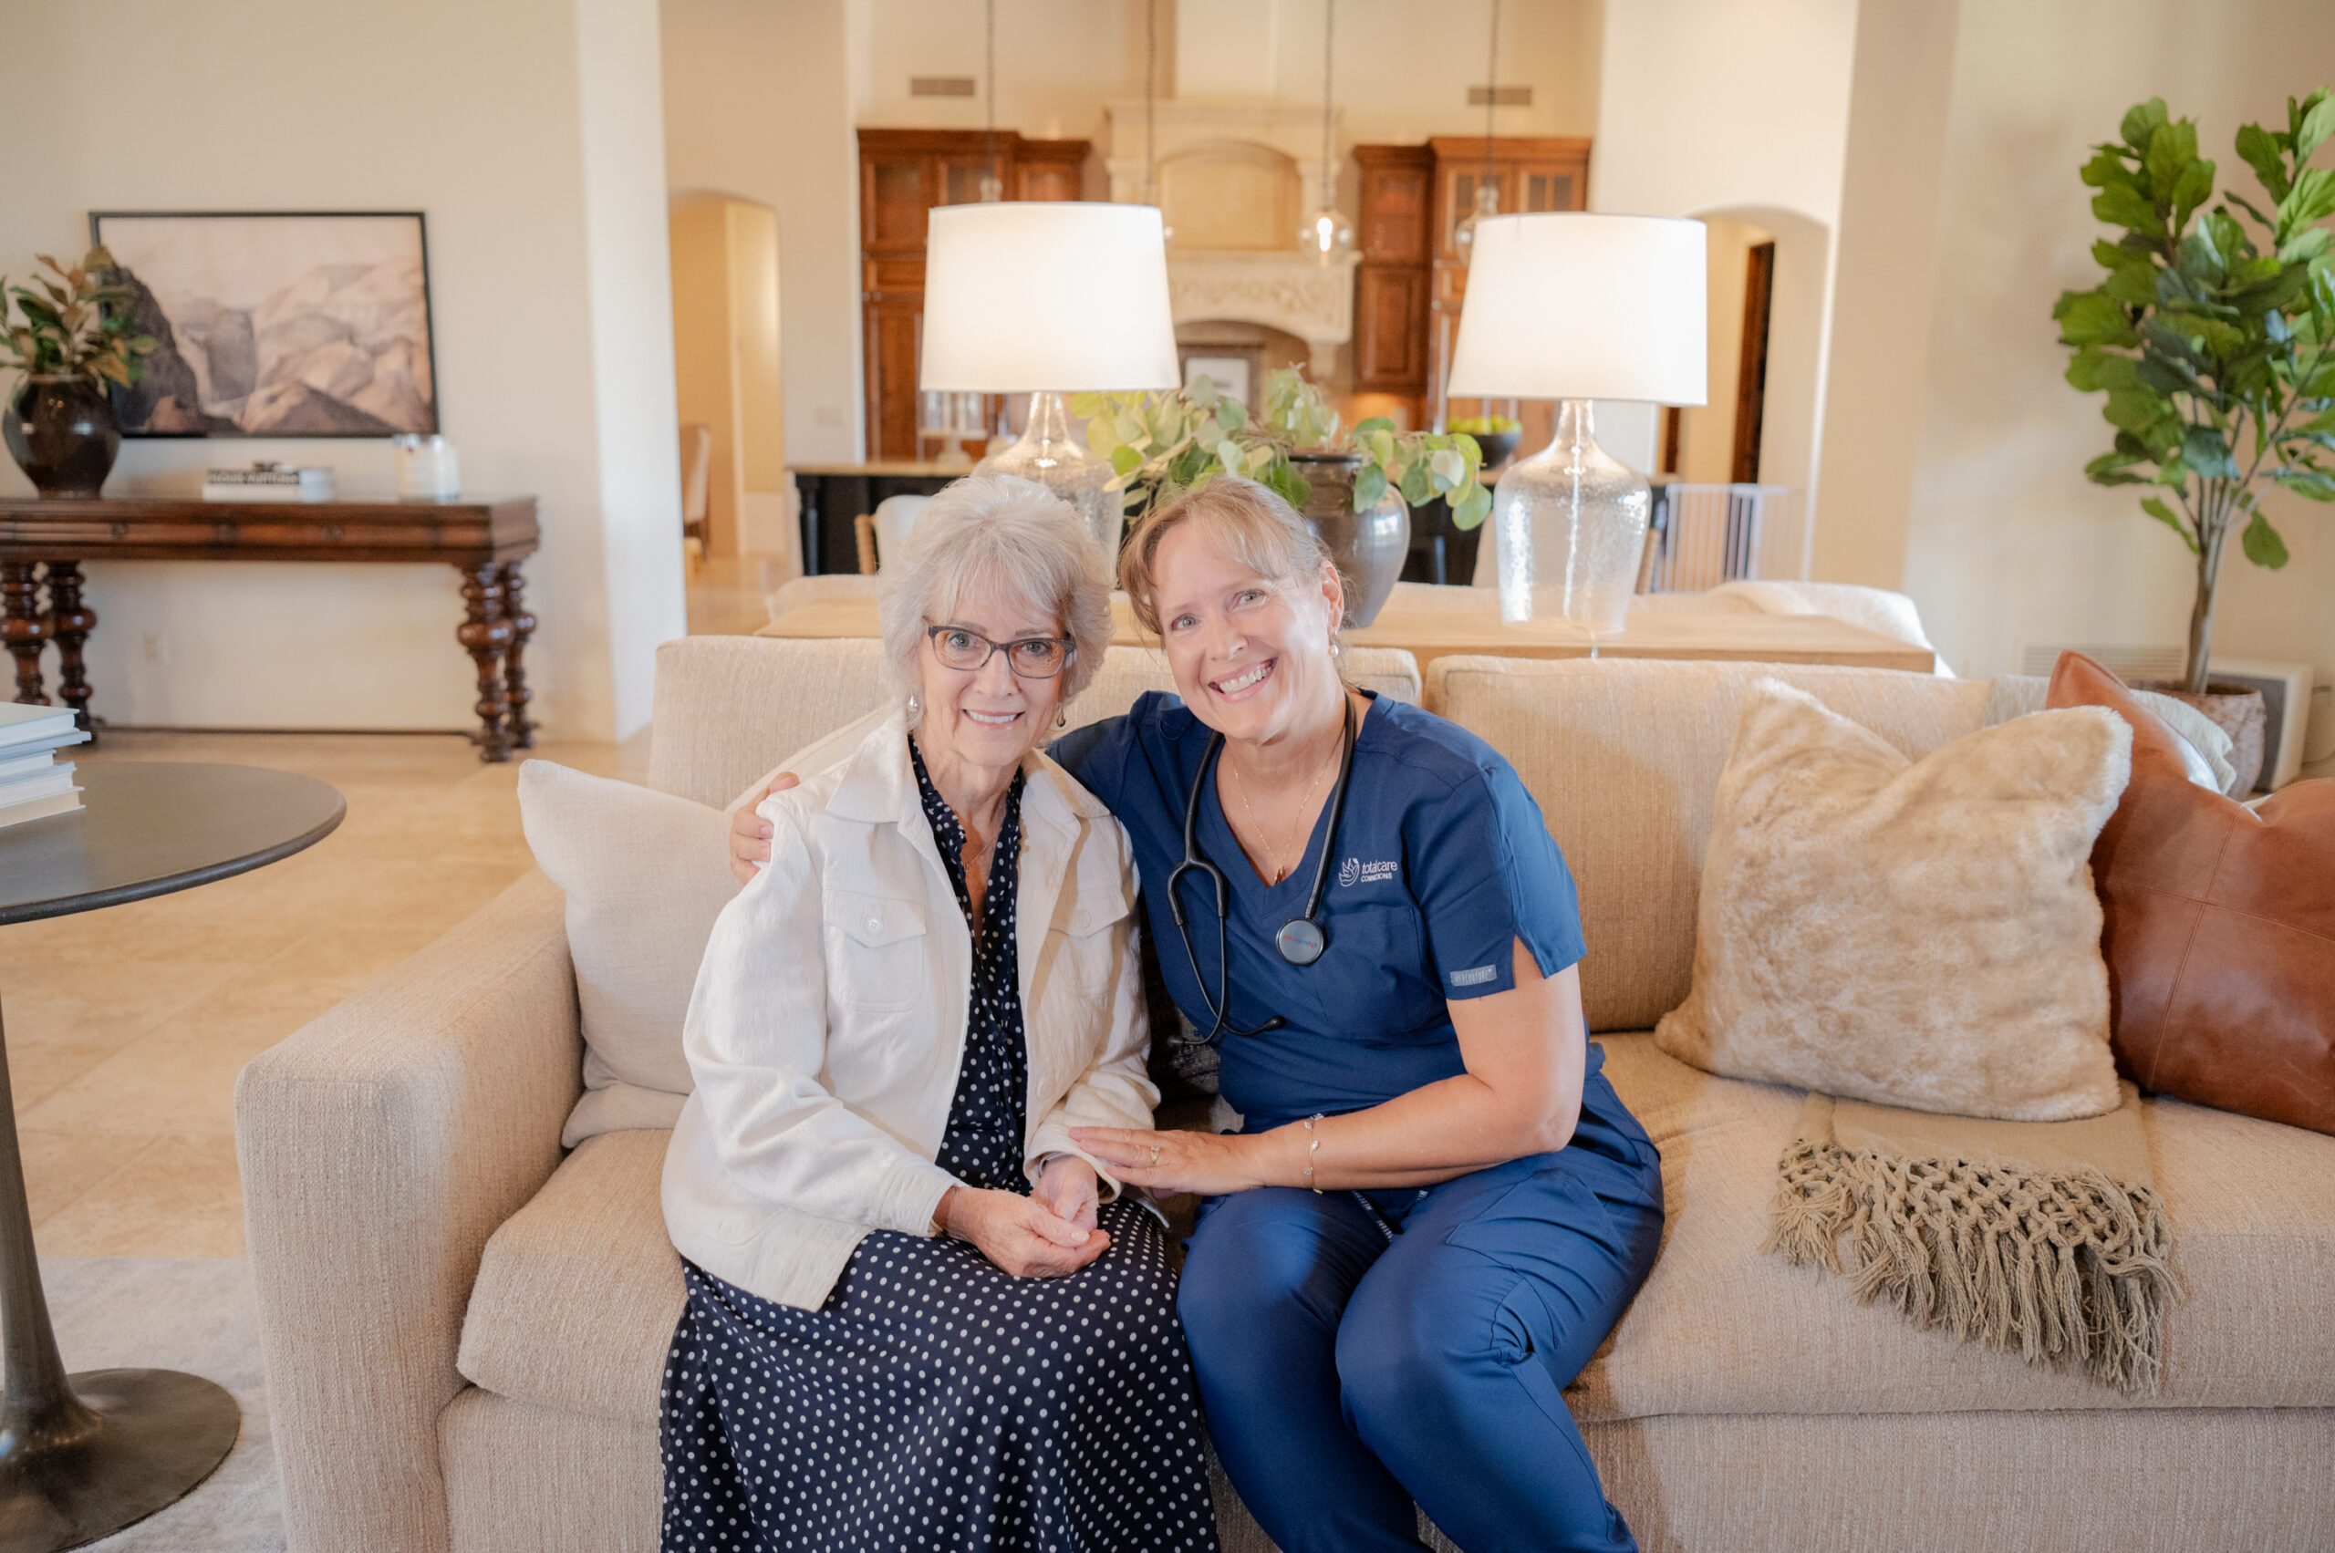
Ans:
{"type": "Polygon", "coordinates": [[[518,822],[567,892],[567,955],[584,1014],[584,1098],[560,1144],[670,1128],[693,1086],[682,1018],[715,918],[738,880],[729,815],[551,761],[518,768],[518,822]]]}

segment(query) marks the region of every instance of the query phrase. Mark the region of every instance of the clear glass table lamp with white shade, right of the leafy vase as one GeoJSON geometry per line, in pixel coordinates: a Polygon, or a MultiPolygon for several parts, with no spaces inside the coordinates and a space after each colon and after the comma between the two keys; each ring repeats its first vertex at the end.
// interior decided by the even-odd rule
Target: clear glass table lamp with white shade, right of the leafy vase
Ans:
{"type": "Polygon", "coordinates": [[[1492,497],[1499,619],[1620,631],[1646,549],[1646,476],[1597,446],[1592,399],[1702,404],[1702,222],[1499,215],[1476,227],[1450,392],[1557,399],[1557,434],[1492,497]]]}

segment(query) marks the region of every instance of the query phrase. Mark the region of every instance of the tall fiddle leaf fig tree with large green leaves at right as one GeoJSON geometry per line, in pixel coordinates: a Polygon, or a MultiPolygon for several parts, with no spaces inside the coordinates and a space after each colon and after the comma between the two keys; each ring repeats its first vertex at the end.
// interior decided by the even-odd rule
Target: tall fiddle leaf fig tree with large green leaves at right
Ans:
{"type": "Polygon", "coordinates": [[[2085,474],[2099,486],[2155,486],[2141,511],[2172,528],[2197,563],[2188,689],[2207,689],[2214,589],[2230,532],[2246,560],[2286,565],[2286,539],[2260,507],[2272,486],[2335,502],[2335,170],[2307,166],[2335,138],[2335,91],[2288,98],[2286,128],[2249,124],[2237,154],[2263,206],[2225,191],[2197,156],[2197,124],[2162,98],[2125,114],[2094,147],[2083,182],[2092,215],[2123,229],[2092,245],[2106,273],[2052,308],[2073,348],[2066,381],[2106,392],[2116,446],[2085,474]]]}

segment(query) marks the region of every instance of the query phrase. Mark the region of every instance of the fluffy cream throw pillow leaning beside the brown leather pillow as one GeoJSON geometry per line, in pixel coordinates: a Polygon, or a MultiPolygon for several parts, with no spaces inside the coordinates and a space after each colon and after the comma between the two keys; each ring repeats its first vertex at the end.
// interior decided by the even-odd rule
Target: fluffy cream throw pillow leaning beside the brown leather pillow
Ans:
{"type": "Polygon", "coordinates": [[[2130,773],[2132,729],[2104,708],[1915,764],[1758,680],[1719,778],[1693,993],[1656,1042],[1709,1072],[1922,1112],[2113,1112],[2090,855],[2130,773]]]}

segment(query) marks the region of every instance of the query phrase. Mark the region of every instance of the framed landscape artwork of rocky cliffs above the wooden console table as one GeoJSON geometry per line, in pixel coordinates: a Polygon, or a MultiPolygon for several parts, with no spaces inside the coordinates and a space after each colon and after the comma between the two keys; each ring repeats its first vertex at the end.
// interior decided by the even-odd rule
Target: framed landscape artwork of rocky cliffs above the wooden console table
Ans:
{"type": "Polygon", "coordinates": [[[430,264],[406,213],[98,210],[138,334],[126,437],[434,432],[430,264]]]}

